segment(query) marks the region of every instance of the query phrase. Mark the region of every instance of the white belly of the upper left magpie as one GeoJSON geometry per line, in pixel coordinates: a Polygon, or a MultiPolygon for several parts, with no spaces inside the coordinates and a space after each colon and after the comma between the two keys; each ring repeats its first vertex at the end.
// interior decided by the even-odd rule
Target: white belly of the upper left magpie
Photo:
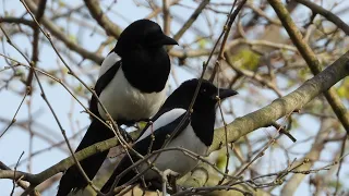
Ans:
{"type": "MultiPolygon", "coordinates": [[[[99,100],[115,120],[140,120],[151,118],[158,111],[166,99],[166,89],[167,85],[159,93],[141,93],[128,82],[120,68],[116,76],[99,95],[99,100]]],[[[98,111],[106,119],[106,114],[99,105],[98,111]]]]}

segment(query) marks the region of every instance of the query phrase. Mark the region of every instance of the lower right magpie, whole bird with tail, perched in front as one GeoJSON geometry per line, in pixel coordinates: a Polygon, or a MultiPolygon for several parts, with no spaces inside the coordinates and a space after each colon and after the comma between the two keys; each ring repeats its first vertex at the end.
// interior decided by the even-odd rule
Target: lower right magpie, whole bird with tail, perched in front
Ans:
{"type": "MultiPolygon", "coordinates": [[[[152,151],[160,149],[169,135],[173,135],[166,147],[182,147],[197,155],[204,156],[212,145],[214,136],[214,125],[216,115],[217,96],[220,99],[237,95],[232,89],[216,88],[210,82],[203,79],[192,113],[185,115],[194,96],[198,79],[186,81],[179,86],[165,101],[158,113],[152,119],[153,125],[147,125],[139,139],[133,145],[133,149],[145,156],[152,147],[152,151]],[[184,119],[183,123],[180,123],[184,119]],[[177,130],[177,131],[176,131],[177,130]],[[176,131],[176,133],[174,133],[176,131]],[[152,133],[155,140],[152,138],[152,133]],[[153,140],[153,142],[152,142],[153,140]]],[[[132,160],[140,160],[137,156],[131,154],[132,160]]],[[[155,156],[149,160],[154,161],[155,156]]],[[[161,171],[171,170],[180,175],[184,175],[197,164],[197,160],[185,156],[182,151],[164,151],[155,160],[155,166],[161,171]]],[[[117,176],[132,166],[129,156],[124,156],[110,179],[103,186],[101,192],[108,193],[117,176]]],[[[146,163],[141,163],[136,169],[139,172],[147,169],[146,163]]],[[[130,170],[116,185],[122,185],[136,175],[134,170],[130,170]]],[[[159,182],[160,176],[147,170],[144,173],[146,182],[159,182]]]]}

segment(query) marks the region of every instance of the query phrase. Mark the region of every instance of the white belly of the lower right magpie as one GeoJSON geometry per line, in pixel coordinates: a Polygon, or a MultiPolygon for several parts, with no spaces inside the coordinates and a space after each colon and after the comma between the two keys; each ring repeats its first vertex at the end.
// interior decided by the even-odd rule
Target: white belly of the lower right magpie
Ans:
{"type": "MultiPolygon", "coordinates": [[[[155,138],[156,139],[156,138],[155,138]]],[[[200,140],[195,135],[191,125],[182,131],[167,147],[182,147],[188,150],[191,150],[200,156],[205,156],[208,147],[200,140]]],[[[151,159],[152,160],[152,159],[151,159]]],[[[152,160],[153,161],[153,160],[152,160]]],[[[193,170],[197,164],[197,160],[192,159],[185,156],[183,152],[178,150],[165,151],[155,161],[155,166],[165,171],[170,169],[174,172],[178,172],[181,175],[193,170]]],[[[141,166],[140,170],[144,170],[147,166],[141,166]]],[[[158,176],[153,170],[149,170],[145,173],[145,179],[155,179],[158,176]]]]}

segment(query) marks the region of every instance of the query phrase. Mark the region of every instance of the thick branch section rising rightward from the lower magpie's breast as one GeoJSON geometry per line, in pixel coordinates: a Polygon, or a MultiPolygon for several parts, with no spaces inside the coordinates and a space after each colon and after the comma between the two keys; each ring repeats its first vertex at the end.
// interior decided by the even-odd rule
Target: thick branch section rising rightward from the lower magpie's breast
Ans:
{"type": "MultiPolygon", "coordinates": [[[[340,57],[322,73],[306,81],[297,90],[282,98],[274,100],[270,105],[255,112],[236,119],[228,125],[228,143],[234,142],[241,136],[244,136],[256,128],[265,127],[284,115],[301,109],[309,101],[314,99],[320,94],[326,91],[329,87],[348,75],[349,52],[340,57]]],[[[215,138],[209,148],[209,152],[218,149],[221,144],[225,144],[224,127],[215,131],[215,138]]]]}

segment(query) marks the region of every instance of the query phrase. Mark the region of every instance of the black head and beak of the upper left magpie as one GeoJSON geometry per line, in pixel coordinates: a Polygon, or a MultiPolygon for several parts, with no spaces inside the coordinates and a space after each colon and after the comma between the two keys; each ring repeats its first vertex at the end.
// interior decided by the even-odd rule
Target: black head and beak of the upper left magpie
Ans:
{"type": "Polygon", "coordinates": [[[149,20],[139,20],[130,24],[120,35],[115,48],[121,58],[134,49],[158,49],[165,45],[178,45],[178,42],[166,36],[160,26],[149,20]]]}

